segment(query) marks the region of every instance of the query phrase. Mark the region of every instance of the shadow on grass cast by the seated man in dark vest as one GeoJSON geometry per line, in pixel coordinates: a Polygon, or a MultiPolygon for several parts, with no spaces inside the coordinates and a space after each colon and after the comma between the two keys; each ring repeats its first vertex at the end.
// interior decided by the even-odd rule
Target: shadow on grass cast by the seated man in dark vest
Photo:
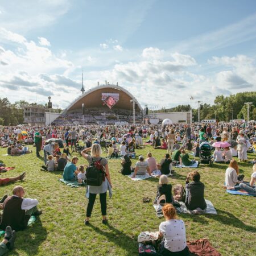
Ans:
{"type": "MultiPolygon", "coordinates": [[[[27,255],[38,254],[38,248],[46,240],[47,230],[43,228],[42,222],[39,217],[36,222],[30,227],[17,233],[16,248],[26,252],[27,255]]],[[[12,255],[19,255],[13,252],[12,255]]]]}

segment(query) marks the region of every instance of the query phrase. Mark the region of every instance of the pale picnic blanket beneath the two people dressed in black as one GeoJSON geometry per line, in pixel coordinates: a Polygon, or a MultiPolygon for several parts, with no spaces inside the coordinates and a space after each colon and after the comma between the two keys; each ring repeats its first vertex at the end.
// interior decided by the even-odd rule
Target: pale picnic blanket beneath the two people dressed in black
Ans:
{"type": "MultiPolygon", "coordinates": [[[[203,214],[203,213],[207,213],[207,214],[217,214],[216,209],[214,208],[213,204],[211,201],[205,199],[205,202],[207,203],[207,209],[206,210],[202,210],[200,208],[197,208],[195,210],[189,210],[187,209],[187,207],[185,206],[184,202],[179,202],[181,205],[180,207],[175,207],[177,213],[188,213],[188,214],[203,214]]],[[[163,213],[162,213],[162,206],[160,204],[155,205],[153,204],[153,207],[155,208],[156,211],[156,216],[158,217],[163,217],[163,213]]]]}

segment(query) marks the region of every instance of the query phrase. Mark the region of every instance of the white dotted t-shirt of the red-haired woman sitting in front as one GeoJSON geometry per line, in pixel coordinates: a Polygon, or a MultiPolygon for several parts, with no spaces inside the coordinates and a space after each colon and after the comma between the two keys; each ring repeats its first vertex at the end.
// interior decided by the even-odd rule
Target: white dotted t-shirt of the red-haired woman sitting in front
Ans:
{"type": "Polygon", "coordinates": [[[183,220],[161,222],[159,231],[163,233],[164,247],[172,252],[182,251],[187,246],[186,230],[183,220]]]}

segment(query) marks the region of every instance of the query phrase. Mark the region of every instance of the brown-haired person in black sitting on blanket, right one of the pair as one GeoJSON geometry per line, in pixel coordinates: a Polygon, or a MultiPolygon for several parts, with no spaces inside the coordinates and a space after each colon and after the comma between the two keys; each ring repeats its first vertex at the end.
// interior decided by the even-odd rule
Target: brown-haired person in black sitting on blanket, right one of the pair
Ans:
{"type": "Polygon", "coordinates": [[[196,208],[205,210],[207,208],[204,200],[204,183],[200,181],[199,172],[189,172],[186,179],[185,191],[185,206],[189,210],[195,210],[196,208]],[[189,183],[189,180],[192,180],[192,182],[189,183]]]}

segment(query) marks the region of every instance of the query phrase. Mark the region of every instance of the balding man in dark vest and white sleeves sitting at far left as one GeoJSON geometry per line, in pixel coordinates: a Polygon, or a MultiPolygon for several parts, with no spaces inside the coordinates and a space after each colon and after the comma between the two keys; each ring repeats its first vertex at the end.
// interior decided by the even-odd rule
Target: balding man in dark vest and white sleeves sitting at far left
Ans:
{"type": "Polygon", "coordinates": [[[3,202],[1,229],[5,230],[7,226],[11,226],[15,231],[26,229],[31,216],[42,214],[37,208],[38,200],[23,198],[24,193],[22,186],[16,186],[13,189],[13,196],[7,197],[3,202]]]}

